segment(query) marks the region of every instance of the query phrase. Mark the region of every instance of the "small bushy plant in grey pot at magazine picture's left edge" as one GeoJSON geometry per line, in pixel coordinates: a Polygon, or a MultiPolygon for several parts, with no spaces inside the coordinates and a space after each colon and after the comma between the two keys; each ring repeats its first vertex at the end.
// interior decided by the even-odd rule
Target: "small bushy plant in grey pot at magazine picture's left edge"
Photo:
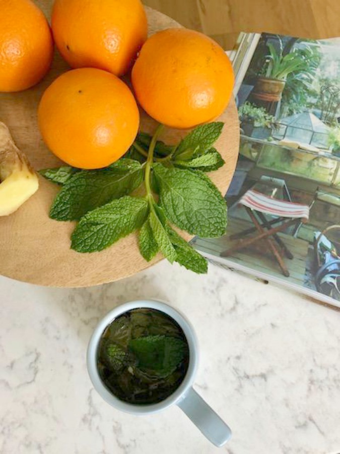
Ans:
{"type": "Polygon", "coordinates": [[[245,136],[254,139],[267,139],[271,130],[276,127],[275,119],[263,107],[245,102],[239,109],[238,115],[241,130],[245,136]]]}

